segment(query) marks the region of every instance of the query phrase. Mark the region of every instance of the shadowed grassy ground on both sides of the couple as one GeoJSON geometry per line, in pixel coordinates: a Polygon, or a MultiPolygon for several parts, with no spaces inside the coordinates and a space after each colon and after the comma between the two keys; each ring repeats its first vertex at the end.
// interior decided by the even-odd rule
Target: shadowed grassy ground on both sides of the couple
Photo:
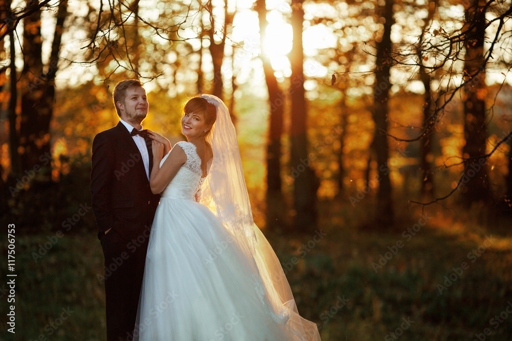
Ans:
{"type": "MultiPolygon", "coordinates": [[[[361,220],[371,217],[359,206],[323,203],[325,218],[309,234],[264,231],[299,311],[318,324],[324,341],[512,339],[509,220],[439,208],[420,220],[419,211],[404,210],[394,232],[378,232],[361,220]]],[[[62,238],[17,230],[16,334],[4,323],[4,280],[0,338],[105,339],[102,266],[92,228],[62,238]],[[34,257],[51,240],[47,253],[34,257]]]]}

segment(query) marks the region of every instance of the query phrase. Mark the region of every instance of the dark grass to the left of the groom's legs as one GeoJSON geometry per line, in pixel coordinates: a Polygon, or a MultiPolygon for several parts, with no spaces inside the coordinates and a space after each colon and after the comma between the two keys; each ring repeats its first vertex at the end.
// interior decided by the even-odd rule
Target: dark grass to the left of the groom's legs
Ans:
{"type": "MultiPolygon", "coordinates": [[[[96,280],[103,266],[99,242],[94,240],[94,233],[65,235],[44,256],[34,257],[52,236],[52,233],[24,235],[17,231],[16,333],[9,333],[2,324],[0,338],[104,339],[104,291],[96,280]]],[[[2,255],[5,254],[3,243],[2,255]]],[[[7,299],[4,292],[1,299],[7,299]]]]}

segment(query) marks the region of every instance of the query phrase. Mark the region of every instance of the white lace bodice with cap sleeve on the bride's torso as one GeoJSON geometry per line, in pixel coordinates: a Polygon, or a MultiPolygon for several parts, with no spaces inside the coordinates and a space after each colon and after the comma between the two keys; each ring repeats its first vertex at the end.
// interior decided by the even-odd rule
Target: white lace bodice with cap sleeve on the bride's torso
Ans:
{"type": "MultiPolygon", "coordinates": [[[[176,145],[183,148],[183,151],[187,155],[187,161],[181,166],[178,173],[176,173],[175,177],[167,185],[161,197],[194,200],[194,195],[202,182],[201,175],[203,172],[201,170],[201,158],[197,154],[196,146],[193,143],[182,141],[178,142],[176,145]]],[[[176,148],[176,145],[174,148],[176,148]]],[[[169,153],[162,158],[160,167],[162,167],[169,153]]]]}

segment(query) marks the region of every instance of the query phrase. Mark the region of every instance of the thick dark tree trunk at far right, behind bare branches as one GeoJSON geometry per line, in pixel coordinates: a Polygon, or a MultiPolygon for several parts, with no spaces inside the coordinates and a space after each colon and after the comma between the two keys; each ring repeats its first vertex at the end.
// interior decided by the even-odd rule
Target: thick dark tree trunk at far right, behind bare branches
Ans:
{"type": "Polygon", "coordinates": [[[486,153],[487,124],[485,122],[485,65],[483,44],[485,38],[485,1],[468,0],[465,6],[464,45],[466,56],[464,61],[464,139],[463,156],[469,158],[464,162],[465,172],[462,178],[464,187],[463,201],[471,204],[476,201],[490,199],[487,184],[486,160],[480,157],[486,153]],[[465,191],[467,189],[467,191],[465,191]]]}

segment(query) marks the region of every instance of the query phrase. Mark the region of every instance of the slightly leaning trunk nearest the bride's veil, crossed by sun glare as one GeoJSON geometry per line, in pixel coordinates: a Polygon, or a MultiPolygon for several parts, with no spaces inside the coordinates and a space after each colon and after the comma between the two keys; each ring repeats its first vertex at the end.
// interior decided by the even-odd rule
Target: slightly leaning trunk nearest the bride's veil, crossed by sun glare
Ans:
{"type": "Polygon", "coordinates": [[[274,228],[286,225],[283,212],[286,212],[281,183],[281,137],[283,134],[284,94],[265,54],[265,30],[268,22],[265,0],[257,0],[256,9],[260,21],[260,58],[268,89],[269,128],[267,138],[267,193],[266,221],[267,226],[274,228]]]}

